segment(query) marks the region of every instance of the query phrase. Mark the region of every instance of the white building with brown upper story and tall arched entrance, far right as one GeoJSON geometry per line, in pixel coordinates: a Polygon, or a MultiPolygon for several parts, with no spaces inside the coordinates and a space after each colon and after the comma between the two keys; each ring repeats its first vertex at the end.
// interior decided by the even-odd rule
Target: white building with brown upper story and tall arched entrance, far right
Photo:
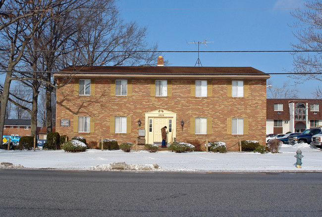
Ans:
{"type": "Polygon", "coordinates": [[[319,99],[267,99],[266,133],[303,132],[322,125],[319,99]]]}

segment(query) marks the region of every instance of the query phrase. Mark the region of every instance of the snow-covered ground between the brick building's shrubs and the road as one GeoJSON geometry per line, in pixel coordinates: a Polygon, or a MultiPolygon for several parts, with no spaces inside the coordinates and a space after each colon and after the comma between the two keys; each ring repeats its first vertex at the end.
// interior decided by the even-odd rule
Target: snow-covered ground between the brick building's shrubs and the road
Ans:
{"type": "Polygon", "coordinates": [[[320,172],[322,150],[308,144],[282,145],[278,154],[253,152],[174,153],[158,151],[88,149],[81,153],[64,150],[7,151],[0,149],[0,168],[54,169],[54,170],[138,170],[169,172],[320,172]],[[296,168],[294,155],[302,150],[302,168],[296,168]],[[125,163],[118,163],[125,162],[125,163]],[[19,166],[20,165],[20,166],[19,166]]]}

